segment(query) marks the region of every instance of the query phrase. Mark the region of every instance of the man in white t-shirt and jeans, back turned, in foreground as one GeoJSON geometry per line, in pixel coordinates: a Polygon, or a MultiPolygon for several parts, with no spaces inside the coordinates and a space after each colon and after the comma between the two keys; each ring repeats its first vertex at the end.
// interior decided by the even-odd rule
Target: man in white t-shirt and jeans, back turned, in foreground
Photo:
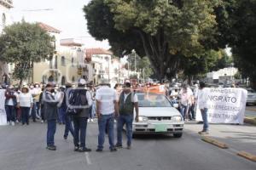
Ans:
{"type": "Polygon", "coordinates": [[[118,98],[115,90],[109,87],[107,80],[102,81],[102,87],[96,91],[96,115],[98,116],[98,152],[103,150],[105,140],[106,124],[108,123],[108,140],[110,151],[116,151],[114,147],[113,121],[118,116],[118,98]]]}

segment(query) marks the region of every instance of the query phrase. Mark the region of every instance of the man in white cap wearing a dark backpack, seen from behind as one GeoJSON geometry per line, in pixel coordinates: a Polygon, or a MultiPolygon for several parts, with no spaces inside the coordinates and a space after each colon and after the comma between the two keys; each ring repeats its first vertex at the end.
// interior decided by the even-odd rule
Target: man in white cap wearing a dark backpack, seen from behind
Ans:
{"type": "Polygon", "coordinates": [[[70,98],[79,99],[80,103],[73,106],[79,106],[79,113],[73,116],[73,126],[74,126],[74,151],[79,152],[89,152],[89,148],[85,147],[85,137],[87,121],[89,117],[89,109],[92,104],[92,99],[90,92],[87,91],[85,86],[86,81],[84,79],[79,79],[79,87],[74,88],[70,94],[70,98]]]}

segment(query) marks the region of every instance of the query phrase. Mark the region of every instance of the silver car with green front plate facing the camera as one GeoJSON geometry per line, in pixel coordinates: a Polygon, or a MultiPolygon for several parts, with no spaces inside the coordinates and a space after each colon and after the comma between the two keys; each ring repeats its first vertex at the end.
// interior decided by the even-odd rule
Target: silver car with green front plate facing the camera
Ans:
{"type": "Polygon", "coordinates": [[[177,104],[164,94],[137,94],[139,122],[133,122],[134,134],[172,133],[175,138],[183,135],[183,117],[177,104]],[[174,107],[175,106],[175,107],[174,107]]]}

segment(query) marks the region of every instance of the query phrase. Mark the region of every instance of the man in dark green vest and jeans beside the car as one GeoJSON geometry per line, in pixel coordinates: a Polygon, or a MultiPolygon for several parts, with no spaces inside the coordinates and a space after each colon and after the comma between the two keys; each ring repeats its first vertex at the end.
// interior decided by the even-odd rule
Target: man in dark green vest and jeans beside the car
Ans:
{"type": "Polygon", "coordinates": [[[134,117],[134,108],[136,111],[136,121],[138,122],[138,100],[137,95],[131,92],[131,83],[126,82],[125,88],[119,97],[119,118],[117,127],[116,148],[122,148],[122,131],[126,126],[127,149],[131,150],[132,122],[134,117]]]}

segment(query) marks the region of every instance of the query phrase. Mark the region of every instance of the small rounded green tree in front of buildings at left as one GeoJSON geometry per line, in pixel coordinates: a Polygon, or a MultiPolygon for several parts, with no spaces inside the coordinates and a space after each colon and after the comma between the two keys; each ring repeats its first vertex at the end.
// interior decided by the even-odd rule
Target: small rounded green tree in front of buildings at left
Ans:
{"type": "Polygon", "coordinates": [[[49,59],[54,54],[54,37],[37,24],[22,20],[3,29],[0,37],[0,59],[15,64],[14,78],[20,83],[30,76],[34,62],[49,59]]]}

